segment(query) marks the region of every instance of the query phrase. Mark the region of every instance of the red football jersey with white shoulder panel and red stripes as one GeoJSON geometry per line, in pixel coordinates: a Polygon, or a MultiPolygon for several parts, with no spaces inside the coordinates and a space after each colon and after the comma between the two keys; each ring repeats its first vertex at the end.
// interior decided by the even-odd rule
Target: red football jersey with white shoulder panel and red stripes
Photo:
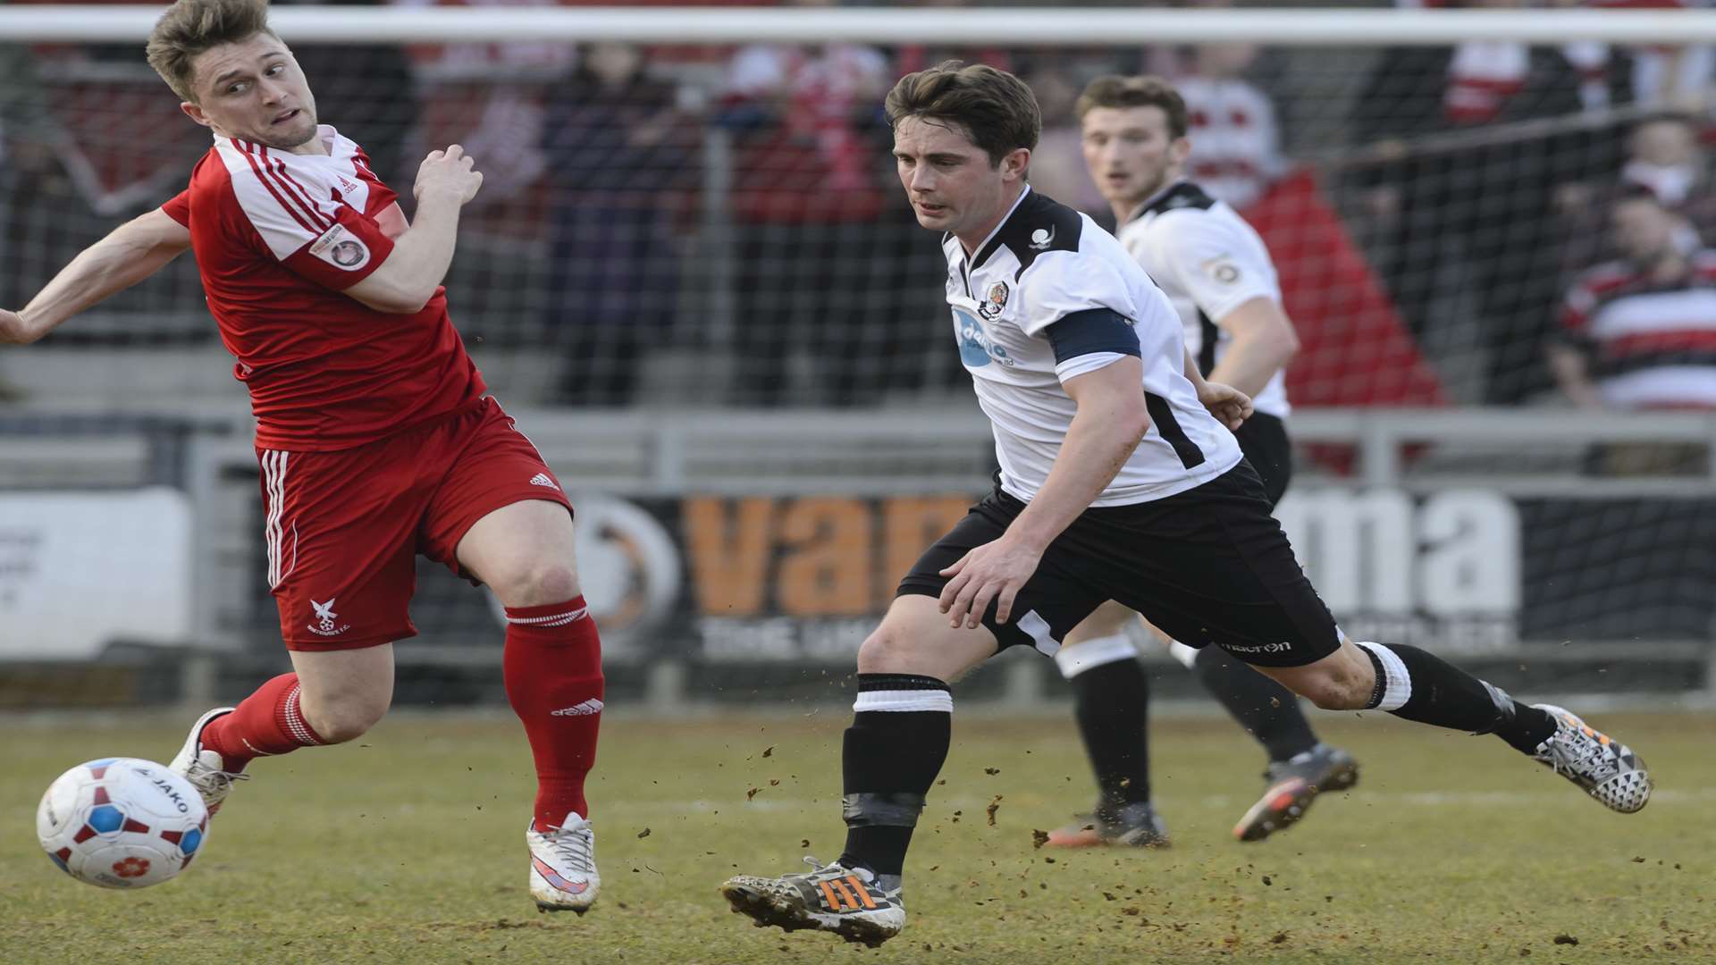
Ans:
{"type": "Polygon", "coordinates": [[[190,187],[161,206],[190,228],[263,448],[359,446],[487,390],[446,314],[444,288],[417,314],[341,294],[393,251],[376,215],[398,196],[348,137],[328,125],[317,137],[328,155],[216,137],[190,187]]]}

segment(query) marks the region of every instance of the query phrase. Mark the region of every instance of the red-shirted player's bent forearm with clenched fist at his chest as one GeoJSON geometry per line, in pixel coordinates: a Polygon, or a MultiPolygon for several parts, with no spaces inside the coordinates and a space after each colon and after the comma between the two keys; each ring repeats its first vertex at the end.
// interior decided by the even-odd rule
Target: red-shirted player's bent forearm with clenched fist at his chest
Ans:
{"type": "Polygon", "coordinates": [[[417,168],[417,218],[367,278],[345,290],[366,306],[395,314],[415,314],[434,297],[453,263],[458,213],[482,187],[482,172],[458,144],[429,151],[417,168]]]}

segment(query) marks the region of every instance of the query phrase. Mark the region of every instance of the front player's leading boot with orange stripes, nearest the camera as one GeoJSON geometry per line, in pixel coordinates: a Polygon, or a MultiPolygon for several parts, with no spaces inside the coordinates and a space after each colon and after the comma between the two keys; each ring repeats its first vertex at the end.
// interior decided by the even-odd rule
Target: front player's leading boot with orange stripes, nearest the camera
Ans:
{"type": "Polygon", "coordinates": [[[884,891],[875,876],[861,867],[819,867],[817,859],[808,857],[805,864],[812,871],[781,877],[729,877],[721,895],[734,913],[750,915],[757,927],[831,931],[870,948],[906,927],[899,888],[884,891]]]}

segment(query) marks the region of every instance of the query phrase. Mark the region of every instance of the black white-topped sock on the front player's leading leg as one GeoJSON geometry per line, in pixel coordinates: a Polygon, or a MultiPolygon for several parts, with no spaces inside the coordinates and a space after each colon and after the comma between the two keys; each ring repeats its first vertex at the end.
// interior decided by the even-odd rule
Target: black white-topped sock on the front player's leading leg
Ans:
{"type": "Polygon", "coordinates": [[[879,877],[901,874],[923,798],[947,759],[952,706],[947,683],[934,677],[858,675],[858,702],[841,757],[843,865],[879,877]]]}

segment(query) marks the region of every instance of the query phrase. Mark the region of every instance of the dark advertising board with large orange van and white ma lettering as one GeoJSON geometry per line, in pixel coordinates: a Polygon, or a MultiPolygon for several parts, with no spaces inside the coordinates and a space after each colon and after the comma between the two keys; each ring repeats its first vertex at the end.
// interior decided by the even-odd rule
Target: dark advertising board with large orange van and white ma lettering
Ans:
{"type": "MultiPolygon", "coordinates": [[[[901,574],[973,498],[575,495],[580,577],[618,659],[849,665],[901,574]]],[[[1716,616],[1711,594],[1677,589],[1716,580],[1707,500],[1306,486],[1278,517],[1356,639],[1498,652],[1522,639],[1695,639],[1716,616]],[[1625,555],[1640,541],[1649,567],[1625,555]]]]}

